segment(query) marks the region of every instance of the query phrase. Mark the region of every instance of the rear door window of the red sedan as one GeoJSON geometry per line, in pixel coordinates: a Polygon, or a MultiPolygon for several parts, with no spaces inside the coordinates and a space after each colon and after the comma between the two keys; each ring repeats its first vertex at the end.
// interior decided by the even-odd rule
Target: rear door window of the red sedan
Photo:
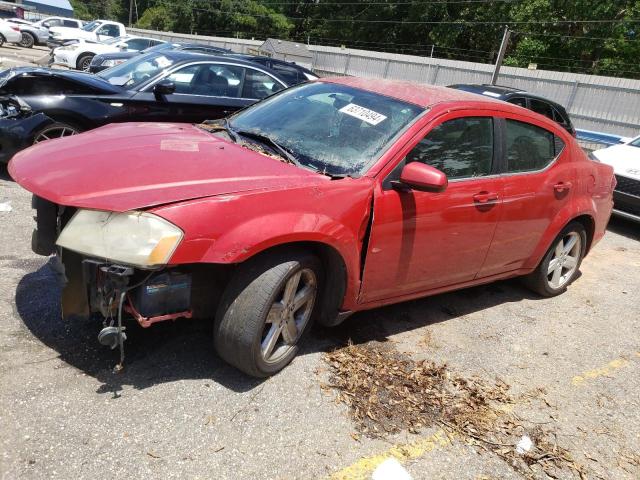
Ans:
{"type": "Polygon", "coordinates": [[[507,120],[506,133],[509,173],[542,170],[564,148],[559,137],[530,123],[507,120]]]}

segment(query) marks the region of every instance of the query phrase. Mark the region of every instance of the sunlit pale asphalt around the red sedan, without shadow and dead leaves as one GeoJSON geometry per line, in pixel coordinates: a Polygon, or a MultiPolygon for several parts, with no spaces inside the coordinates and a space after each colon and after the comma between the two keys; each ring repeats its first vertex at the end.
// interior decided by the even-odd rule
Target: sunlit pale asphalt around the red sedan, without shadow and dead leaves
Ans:
{"type": "MultiPolygon", "coordinates": [[[[3,66],[44,48],[2,47],[3,66]]],[[[13,62],[13,63],[11,63],[13,62]]],[[[321,388],[323,352],[392,342],[456,374],[504,381],[522,433],[555,432],[587,478],[640,478],[640,226],[613,219],[567,293],[540,299],[517,281],[403,303],[316,328],[281,374],[257,381],[213,351],[209,325],[131,327],[127,367],[92,322],[59,318],[49,260],[30,250],[30,195],[0,166],[0,478],[370,478],[398,452],[414,479],[521,478],[437,428],[354,435],[321,388]],[[0,209],[1,210],[1,209],[0,209]],[[542,389],[542,390],[540,390],[542,389]],[[543,392],[543,393],[541,393],[543,392]]],[[[397,456],[397,455],[396,455],[397,456]]],[[[567,474],[567,478],[572,478],[567,474]]]]}

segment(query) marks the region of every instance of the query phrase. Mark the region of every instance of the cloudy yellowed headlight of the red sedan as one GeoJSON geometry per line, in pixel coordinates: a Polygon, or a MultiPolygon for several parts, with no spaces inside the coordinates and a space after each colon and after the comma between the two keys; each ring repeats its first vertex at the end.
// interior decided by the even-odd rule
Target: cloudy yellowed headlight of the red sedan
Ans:
{"type": "Polygon", "coordinates": [[[167,264],[183,236],[178,227],[151,213],[78,210],[56,244],[92,257],[150,268],[167,264]]]}

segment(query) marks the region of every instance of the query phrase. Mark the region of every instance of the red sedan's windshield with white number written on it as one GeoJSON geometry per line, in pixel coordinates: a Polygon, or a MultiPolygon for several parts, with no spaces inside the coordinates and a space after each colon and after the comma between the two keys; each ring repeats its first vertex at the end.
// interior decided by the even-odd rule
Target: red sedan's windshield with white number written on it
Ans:
{"type": "Polygon", "coordinates": [[[266,136],[303,166],[332,176],[359,176],[423,109],[333,83],[285,90],[232,116],[236,132],[266,136]]]}

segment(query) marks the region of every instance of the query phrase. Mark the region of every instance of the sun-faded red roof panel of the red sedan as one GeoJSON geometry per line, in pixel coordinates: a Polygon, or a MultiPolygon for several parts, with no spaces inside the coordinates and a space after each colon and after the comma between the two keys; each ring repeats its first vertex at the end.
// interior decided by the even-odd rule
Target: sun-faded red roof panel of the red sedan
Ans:
{"type": "MultiPolygon", "coordinates": [[[[319,81],[338,83],[362,90],[396,98],[407,103],[413,103],[423,108],[430,107],[436,103],[443,102],[474,102],[486,103],[487,105],[509,105],[500,100],[490,97],[476,95],[462,90],[455,90],[448,87],[436,87],[403,80],[383,80],[379,78],[359,78],[359,77],[329,77],[321,78],[319,81]]],[[[520,109],[521,107],[515,107],[520,109]]]]}

